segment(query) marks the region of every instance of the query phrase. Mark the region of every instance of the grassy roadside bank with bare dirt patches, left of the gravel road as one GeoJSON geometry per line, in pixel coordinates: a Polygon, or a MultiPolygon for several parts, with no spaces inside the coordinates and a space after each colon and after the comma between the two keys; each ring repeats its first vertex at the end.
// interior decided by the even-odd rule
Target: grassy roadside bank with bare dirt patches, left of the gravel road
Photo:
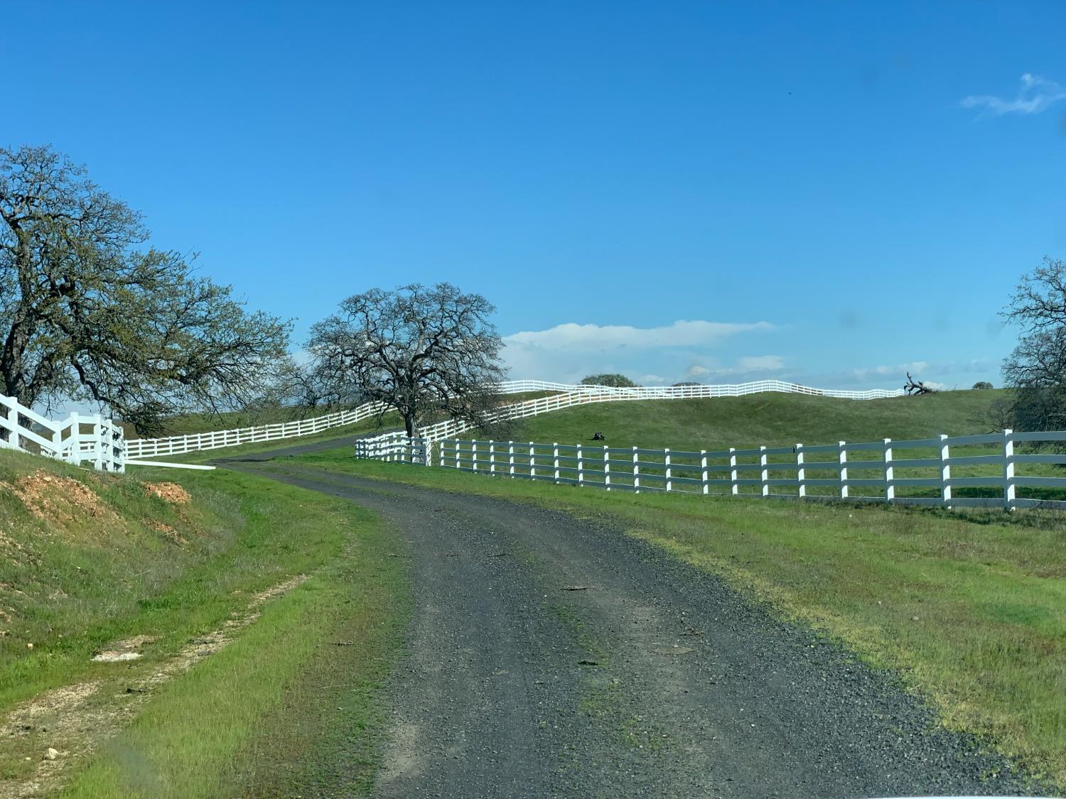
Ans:
{"type": "Polygon", "coordinates": [[[0,797],[369,784],[407,593],[372,513],[0,452],[0,797]]]}

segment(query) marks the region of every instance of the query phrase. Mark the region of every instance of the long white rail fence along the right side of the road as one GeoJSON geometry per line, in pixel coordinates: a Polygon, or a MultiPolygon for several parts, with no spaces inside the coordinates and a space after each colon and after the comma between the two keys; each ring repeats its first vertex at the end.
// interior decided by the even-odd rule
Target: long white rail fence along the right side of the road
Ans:
{"type": "Polygon", "coordinates": [[[1063,510],[1066,477],[1055,476],[1047,467],[1066,464],[1066,454],[1038,452],[1034,446],[1063,442],[1066,433],[1003,430],[906,441],[676,451],[532,441],[432,441],[389,434],[356,442],[355,454],[609,491],[1063,510]],[[1023,452],[1016,451],[1018,444],[1023,452]],[[1031,495],[1019,495],[1018,489],[1031,495]]]}

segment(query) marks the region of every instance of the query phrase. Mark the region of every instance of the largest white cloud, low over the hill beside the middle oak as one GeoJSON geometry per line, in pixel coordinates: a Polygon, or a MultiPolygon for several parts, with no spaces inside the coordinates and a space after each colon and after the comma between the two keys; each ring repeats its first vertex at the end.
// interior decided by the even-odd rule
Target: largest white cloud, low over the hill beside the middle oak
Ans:
{"type": "Polygon", "coordinates": [[[663,385],[680,379],[689,364],[706,362],[708,350],[733,337],[775,329],[769,322],[679,320],[646,328],[567,323],[503,337],[503,358],[516,379],[577,381],[618,372],[646,386],[663,385]]]}

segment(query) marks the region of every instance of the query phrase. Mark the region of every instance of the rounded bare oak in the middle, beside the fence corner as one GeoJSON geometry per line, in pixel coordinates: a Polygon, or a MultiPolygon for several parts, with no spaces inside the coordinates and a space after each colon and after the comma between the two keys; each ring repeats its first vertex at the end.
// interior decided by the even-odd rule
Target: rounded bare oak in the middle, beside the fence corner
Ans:
{"type": "Polygon", "coordinates": [[[450,283],[355,294],[311,328],[317,384],[385,403],[409,436],[435,413],[484,426],[505,376],[495,310],[450,283]]]}

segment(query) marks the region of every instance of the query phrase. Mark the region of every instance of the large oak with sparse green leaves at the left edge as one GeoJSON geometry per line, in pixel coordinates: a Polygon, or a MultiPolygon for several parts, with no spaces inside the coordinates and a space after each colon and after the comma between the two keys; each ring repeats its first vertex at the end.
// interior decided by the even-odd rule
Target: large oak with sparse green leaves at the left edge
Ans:
{"type": "Polygon", "coordinates": [[[158,430],[172,413],[240,406],[288,347],[173,251],[139,249],[141,214],[50,147],[0,148],[0,389],[46,410],[99,405],[158,430]]]}

